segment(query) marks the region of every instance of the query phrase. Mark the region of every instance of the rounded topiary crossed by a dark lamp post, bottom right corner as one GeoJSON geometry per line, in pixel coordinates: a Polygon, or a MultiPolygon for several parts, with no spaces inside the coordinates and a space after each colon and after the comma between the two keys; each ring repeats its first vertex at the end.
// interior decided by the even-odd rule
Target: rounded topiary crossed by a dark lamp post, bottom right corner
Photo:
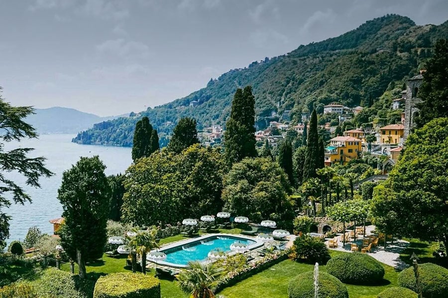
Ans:
{"type": "MultiPolygon", "coordinates": [[[[448,297],[448,269],[433,263],[419,264],[419,276],[425,298],[448,297]]],[[[413,267],[400,272],[398,285],[417,291],[413,267]]]]}

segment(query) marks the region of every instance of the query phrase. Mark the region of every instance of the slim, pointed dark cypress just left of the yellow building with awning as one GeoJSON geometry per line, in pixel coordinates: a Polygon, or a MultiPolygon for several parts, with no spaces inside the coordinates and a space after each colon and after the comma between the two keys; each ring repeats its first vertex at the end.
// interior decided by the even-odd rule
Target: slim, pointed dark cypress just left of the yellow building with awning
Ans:
{"type": "Polygon", "coordinates": [[[310,120],[310,132],[307,139],[307,152],[305,156],[303,182],[310,178],[317,178],[316,169],[320,168],[319,135],[317,130],[316,109],[313,110],[310,120]]]}

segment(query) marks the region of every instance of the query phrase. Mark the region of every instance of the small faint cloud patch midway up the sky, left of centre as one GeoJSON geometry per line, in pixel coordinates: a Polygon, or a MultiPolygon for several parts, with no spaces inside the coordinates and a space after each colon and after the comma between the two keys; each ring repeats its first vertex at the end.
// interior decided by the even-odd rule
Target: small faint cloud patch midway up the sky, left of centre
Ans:
{"type": "Polygon", "coordinates": [[[103,55],[117,56],[125,60],[147,59],[149,47],[139,41],[125,41],[122,38],[110,39],[97,45],[96,50],[103,55]]]}

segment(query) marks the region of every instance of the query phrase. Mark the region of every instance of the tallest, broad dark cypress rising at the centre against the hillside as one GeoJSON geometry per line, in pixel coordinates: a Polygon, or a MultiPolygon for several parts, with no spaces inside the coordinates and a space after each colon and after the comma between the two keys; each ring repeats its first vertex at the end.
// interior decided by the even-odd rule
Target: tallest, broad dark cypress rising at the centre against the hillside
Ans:
{"type": "Polygon", "coordinates": [[[233,96],[230,119],[224,134],[225,159],[229,165],[244,157],[256,157],[255,97],[252,87],[238,88],[233,96]]]}

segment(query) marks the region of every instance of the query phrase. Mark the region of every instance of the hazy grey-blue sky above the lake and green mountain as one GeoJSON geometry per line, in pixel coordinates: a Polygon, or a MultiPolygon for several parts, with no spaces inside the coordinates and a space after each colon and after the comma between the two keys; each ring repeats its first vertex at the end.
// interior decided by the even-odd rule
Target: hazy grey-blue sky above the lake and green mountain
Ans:
{"type": "Polygon", "coordinates": [[[447,0],[0,0],[2,98],[138,112],[387,13],[438,25],[447,12],[447,0]]]}

